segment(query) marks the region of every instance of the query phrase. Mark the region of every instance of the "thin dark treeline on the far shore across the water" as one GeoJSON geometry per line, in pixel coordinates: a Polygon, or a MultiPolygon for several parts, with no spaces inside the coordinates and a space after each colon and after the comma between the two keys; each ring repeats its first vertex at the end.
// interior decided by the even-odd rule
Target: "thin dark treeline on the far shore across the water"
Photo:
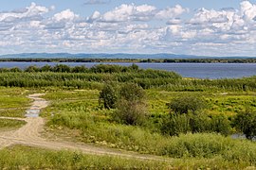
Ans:
{"type": "Polygon", "coordinates": [[[160,63],[256,63],[256,59],[87,59],[87,58],[69,58],[69,59],[47,59],[47,58],[20,58],[20,59],[0,59],[0,61],[17,62],[160,62],[160,63]]]}

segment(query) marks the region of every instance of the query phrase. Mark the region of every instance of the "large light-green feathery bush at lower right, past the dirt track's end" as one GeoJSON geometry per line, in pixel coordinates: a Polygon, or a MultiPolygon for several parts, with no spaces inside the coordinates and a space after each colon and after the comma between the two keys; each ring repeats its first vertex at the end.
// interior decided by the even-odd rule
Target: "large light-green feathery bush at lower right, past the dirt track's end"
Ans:
{"type": "Polygon", "coordinates": [[[173,137],[170,143],[163,147],[162,154],[173,158],[222,157],[226,161],[256,164],[254,143],[210,133],[182,134],[173,137]]]}

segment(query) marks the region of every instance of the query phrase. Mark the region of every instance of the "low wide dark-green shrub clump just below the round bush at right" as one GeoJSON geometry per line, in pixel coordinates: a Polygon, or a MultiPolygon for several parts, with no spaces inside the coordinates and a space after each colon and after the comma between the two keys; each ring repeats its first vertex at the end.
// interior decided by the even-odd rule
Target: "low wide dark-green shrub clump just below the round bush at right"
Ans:
{"type": "Polygon", "coordinates": [[[215,132],[229,135],[230,121],[225,115],[210,116],[204,112],[189,112],[187,114],[171,113],[164,118],[161,132],[171,136],[182,133],[215,132]]]}

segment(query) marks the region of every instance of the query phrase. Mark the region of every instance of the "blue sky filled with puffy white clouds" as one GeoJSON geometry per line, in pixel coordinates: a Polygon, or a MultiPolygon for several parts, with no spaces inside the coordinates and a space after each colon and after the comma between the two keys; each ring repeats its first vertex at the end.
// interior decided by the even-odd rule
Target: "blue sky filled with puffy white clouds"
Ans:
{"type": "Polygon", "coordinates": [[[256,56],[256,0],[0,1],[0,55],[256,56]]]}

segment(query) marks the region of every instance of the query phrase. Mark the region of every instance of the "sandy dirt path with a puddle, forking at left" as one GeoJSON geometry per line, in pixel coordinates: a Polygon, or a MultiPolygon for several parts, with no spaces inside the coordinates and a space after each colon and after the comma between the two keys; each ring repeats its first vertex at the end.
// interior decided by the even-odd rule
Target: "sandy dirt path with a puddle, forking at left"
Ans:
{"type": "Polygon", "coordinates": [[[0,119],[15,119],[24,120],[27,124],[17,130],[0,132],[0,149],[7,147],[11,144],[25,144],[30,146],[38,146],[49,149],[67,149],[82,151],[86,154],[94,155],[113,155],[125,158],[137,158],[140,160],[155,160],[155,161],[170,161],[161,157],[151,155],[140,155],[131,152],[120,152],[115,149],[106,149],[89,144],[76,144],[69,142],[52,142],[41,137],[41,132],[44,129],[45,120],[39,117],[38,114],[41,109],[46,108],[48,102],[40,98],[44,95],[43,93],[35,93],[28,95],[29,98],[33,99],[32,106],[27,110],[27,118],[9,118],[0,117],[0,119]]]}

